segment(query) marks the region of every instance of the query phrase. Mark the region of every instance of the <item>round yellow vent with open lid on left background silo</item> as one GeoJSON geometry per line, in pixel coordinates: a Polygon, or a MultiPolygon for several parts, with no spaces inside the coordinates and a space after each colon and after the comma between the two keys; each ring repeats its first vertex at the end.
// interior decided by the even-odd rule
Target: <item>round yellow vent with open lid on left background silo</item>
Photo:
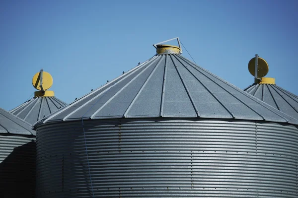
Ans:
{"type": "Polygon", "coordinates": [[[53,77],[50,73],[40,69],[32,78],[32,85],[39,91],[34,92],[34,97],[53,97],[54,91],[48,91],[53,85],[53,77]]]}

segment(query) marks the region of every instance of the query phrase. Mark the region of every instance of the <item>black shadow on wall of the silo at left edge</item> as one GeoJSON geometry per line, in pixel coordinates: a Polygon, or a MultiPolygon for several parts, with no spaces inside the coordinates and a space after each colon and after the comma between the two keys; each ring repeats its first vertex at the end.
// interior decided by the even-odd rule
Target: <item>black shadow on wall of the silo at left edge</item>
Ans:
{"type": "Polygon", "coordinates": [[[35,198],[36,142],[15,147],[0,163],[0,198],[35,198]]]}

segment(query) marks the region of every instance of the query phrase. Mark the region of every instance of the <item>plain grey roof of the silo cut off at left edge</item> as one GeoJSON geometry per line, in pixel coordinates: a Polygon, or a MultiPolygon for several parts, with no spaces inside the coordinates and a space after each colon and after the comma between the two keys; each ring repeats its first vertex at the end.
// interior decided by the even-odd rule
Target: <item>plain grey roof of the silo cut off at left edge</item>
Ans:
{"type": "Polygon", "coordinates": [[[32,125],[0,108],[0,133],[35,135],[32,125]]]}

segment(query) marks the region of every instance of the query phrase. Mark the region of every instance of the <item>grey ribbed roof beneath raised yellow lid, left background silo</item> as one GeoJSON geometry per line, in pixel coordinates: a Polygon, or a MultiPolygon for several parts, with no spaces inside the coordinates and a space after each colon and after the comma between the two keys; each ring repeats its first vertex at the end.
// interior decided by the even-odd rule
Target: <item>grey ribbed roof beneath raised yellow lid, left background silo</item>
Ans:
{"type": "Polygon", "coordinates": [[[65,102],[56,97],[35,97],[9,112],[33,125],[65,105],[65,102]]]}

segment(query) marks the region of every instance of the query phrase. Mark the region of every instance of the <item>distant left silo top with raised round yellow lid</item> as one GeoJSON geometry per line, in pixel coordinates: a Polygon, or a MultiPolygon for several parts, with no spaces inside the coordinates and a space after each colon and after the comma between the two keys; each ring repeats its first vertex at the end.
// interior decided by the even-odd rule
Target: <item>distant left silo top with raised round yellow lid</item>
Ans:
{"type": "Polygon", "coordinates": [[[33,98],[9,112],[33,125],[40,119],[64,107],[66,103],[55,97],[54,91],[47,90],[52,86],[53,78],[43,69],[33,76],[32,84],[39,91],[35,91],[33,98]],[[40,86],[42,84],[44,87],[40,86]]]}

